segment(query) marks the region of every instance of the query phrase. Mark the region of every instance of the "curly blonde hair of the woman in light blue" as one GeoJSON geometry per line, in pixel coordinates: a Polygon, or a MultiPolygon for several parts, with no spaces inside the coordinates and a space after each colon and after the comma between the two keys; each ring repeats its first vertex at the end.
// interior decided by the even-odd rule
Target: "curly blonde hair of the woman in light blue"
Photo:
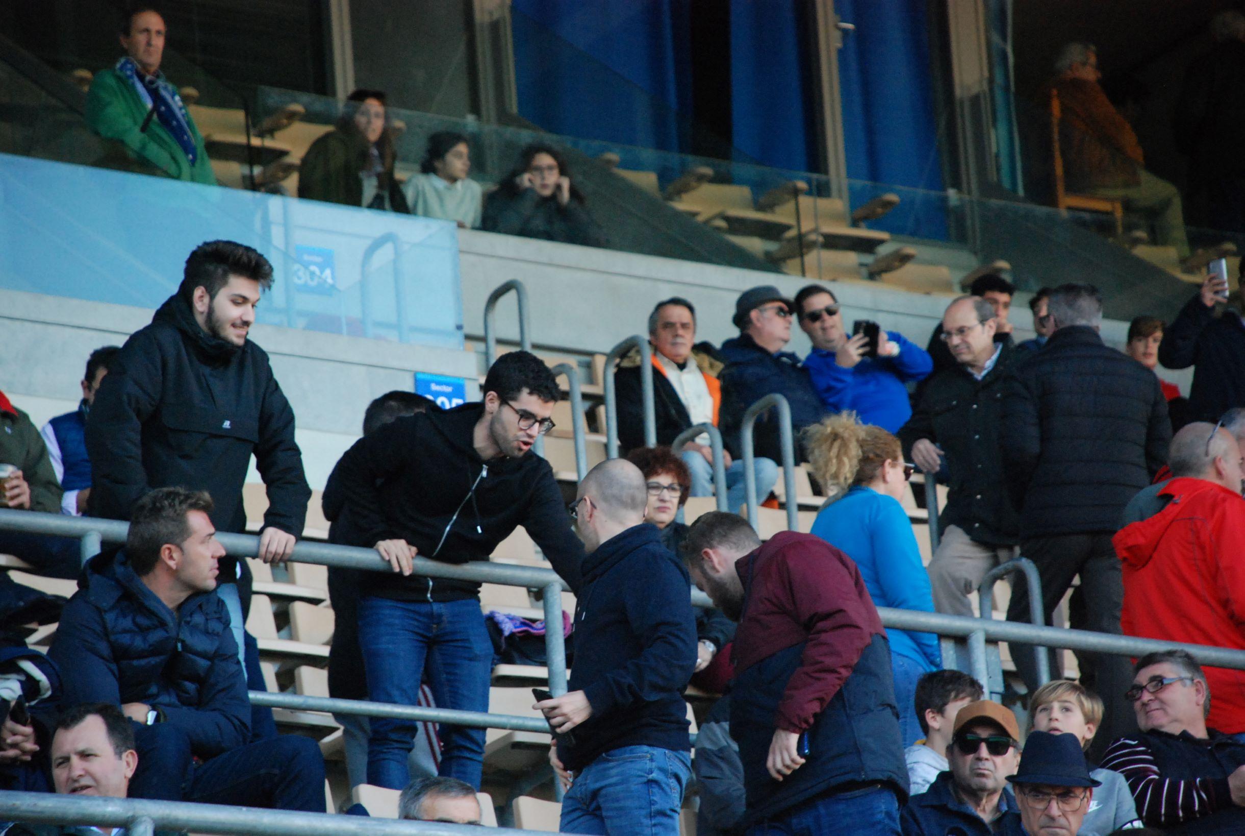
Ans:
{"type": "Polygon", "coordinates": [[[888,458],[904,458],[899,439],[879,426],[860,424],[850,410],[806,427],[804,449],[813,476],[830,496],[868,485],[888,458]]]}

